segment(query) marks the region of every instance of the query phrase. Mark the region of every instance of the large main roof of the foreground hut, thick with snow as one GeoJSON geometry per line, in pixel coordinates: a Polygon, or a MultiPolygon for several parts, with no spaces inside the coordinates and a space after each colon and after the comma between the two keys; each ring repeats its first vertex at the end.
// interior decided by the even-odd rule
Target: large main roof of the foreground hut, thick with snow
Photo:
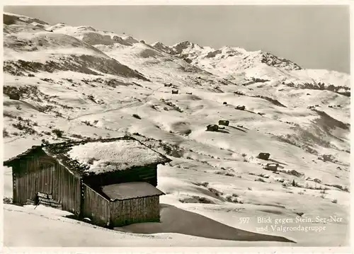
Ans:
{"type": "Polygon", "coordinates": [[[125,136],[33,146],[23,154],[4,161],[4,166],[11,166],[16,159],[38,149],[78,175],[97,175],[171,161],[137,139],[125,136]]]}

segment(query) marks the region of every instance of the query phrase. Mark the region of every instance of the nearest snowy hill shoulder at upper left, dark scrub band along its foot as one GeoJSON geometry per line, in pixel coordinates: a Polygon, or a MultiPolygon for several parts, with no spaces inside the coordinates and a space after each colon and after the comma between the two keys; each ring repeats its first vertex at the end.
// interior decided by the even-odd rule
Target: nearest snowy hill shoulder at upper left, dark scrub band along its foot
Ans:
{"type": "Polygon", "coordinates": [[[55,33],[51,27],[38,28],[30,18],[18,18],[8,23],[9,25],[4,23],[5,72],[23,76],[38,70],[61,70],[93,75],[113,74],[146,80],[142,74],[110,59],[96,47],[71,35],[55,33]]]}

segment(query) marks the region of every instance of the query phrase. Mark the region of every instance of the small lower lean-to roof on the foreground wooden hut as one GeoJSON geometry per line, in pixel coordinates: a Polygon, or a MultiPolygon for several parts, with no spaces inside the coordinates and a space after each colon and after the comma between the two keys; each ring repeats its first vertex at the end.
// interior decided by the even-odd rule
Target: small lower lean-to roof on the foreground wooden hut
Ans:
{"type": "Polygon", "coordinates": [[[145,182],[118,183],[102,187],[110,200],[128,200],[137,197],[164,195],[164,192],[145,182]]]}

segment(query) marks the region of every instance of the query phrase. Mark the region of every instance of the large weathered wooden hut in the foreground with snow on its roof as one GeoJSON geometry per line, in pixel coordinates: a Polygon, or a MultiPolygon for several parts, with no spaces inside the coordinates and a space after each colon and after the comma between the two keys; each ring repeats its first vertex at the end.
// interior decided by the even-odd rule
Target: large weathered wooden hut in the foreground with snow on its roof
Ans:
{"type": "Polygon", "coordinates": [[[32,146],[4,161],[13,203],[45,204],[98,226],[159,221],[157,165],[171,161],[133,137],[32,146]]]}

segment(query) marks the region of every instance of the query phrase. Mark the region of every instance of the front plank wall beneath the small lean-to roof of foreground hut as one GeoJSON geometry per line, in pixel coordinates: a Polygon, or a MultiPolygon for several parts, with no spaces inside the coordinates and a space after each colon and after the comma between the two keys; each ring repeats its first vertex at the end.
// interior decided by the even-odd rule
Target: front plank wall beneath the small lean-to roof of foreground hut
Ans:
{"type": "Polygon", "coordinates": [[[113,226],[159,221],[159,218],[159,196],[110,202],[110,224],[113,226]]]}

